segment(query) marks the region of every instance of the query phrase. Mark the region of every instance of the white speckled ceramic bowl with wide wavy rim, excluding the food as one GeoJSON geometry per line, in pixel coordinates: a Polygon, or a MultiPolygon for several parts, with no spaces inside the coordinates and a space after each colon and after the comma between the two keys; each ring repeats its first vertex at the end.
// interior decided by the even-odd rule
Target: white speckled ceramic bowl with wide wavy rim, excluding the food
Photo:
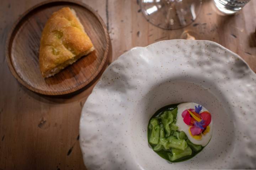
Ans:
{"type": "Polygon", "coordinates": [[[256,168],[256,75],[211,41],[168,40],[124,53],[103,73],[80,119],[88,170],[256,168]],[[190,160],[169,163],[148,145],[159,108],[196,102],[212,113],[209,144],[190,160]]]}

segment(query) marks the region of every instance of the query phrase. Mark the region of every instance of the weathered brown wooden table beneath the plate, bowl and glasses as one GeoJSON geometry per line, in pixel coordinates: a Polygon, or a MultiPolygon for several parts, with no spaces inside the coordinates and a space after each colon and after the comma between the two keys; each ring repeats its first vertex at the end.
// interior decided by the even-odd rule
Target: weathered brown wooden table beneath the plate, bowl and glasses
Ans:
{"type": "MultiPolygon", "coordinates": [[[[26,89],[11,75],[5,42],[12,24],[42,0],[2,0],[0,5],[0,170],[86,169],[79,147],[79,118],[94,85],[73,97],[46,97],[26,89]]],[[[204,0],[199,17],[179,30],[163,30],[148,23],[136,0],[83,0],[105,21],[112,42],[112,58],[135,46],[184,38],[218,42],[238,53],[256,71],[256,2],[233,16],[221,15],[204,0]]]]}

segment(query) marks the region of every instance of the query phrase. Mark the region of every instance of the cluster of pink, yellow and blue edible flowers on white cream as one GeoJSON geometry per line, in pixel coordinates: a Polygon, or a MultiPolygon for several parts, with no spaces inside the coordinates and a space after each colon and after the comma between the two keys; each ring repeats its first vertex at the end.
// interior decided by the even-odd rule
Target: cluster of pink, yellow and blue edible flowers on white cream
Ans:
{"type": "Polygon", "coordinates": [[[205,135],[209,132],[208,126],[212,120],[209,112],[202,111],[202,106],[195,106],[195,109],[186,109],[182,112],[184,123],[190,126],[189,132],[193,138],[200,140],[202,134],[205,135]],[[201,112],[201,113],[200,113],[201,112]]]}

